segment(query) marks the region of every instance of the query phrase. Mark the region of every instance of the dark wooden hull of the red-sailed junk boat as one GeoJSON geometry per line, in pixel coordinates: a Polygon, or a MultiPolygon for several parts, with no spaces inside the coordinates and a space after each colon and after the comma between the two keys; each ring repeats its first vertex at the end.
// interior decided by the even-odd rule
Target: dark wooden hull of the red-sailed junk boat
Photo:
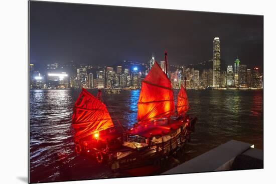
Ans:
{"type": "MultiPolygon", "coordinates": [[[[118,138],[117,147],[104,149],[105,146],[95,147],[93,143],[82,145],[82,154],[92,156],[99,164],[105,164],[113,170],[124,170],[142,167],[146,165],[156,165],[164,167],[170,157],[178,153],[184,153],[187,141],[190,141],[191,133],[195,130],[196,117],[189,117],[189,122],[184,122],[181,130],[172,131],[173,135],[169,140],[152,144],[145,147],[130,148],[123,144],[123,140],[118,138]]],[[[180,119],[171,120],[171,123],[179,123],[180,119]]],[[[125,136],[124,133],[121,135],[125,136]]],[[[165,140],[165,138],[163,138],[165,140]]],[[[113,145],[116,144],[113,142],[113,145]]],[[[104,144],[104,143],[103,143],[104,144]]],[[[108,143],[106,143],[108,144],[108,143]]],[[[110,144],[110,143],[109,143],[110,144]]]]}

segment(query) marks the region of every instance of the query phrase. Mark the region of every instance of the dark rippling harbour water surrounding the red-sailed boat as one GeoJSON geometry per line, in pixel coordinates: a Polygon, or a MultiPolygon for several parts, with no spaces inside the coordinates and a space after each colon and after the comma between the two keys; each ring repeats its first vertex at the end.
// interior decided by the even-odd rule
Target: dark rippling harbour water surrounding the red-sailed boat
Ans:
{"type": "MultiPolygon", "coordinates": [[[[89,90],[96,95],[97,90],[89,90]]],[[[31,90],[30,159],[31,181],[54,181],[114,177],[93,160],[74,152],[72,107],[80,90],[31,90]]],[[[175,100],[177,99],[175,90],[175,100]]],[[[262,90],[187,90],[191,109],[198,117],[196,131],[187,146],[190,159],[231,139],[262,149],[262,90]]],[[[119,129],[117,120],[130,127],[137,116],[140,90],[120,94],[102,93],[103,102],[119,129]]]]}

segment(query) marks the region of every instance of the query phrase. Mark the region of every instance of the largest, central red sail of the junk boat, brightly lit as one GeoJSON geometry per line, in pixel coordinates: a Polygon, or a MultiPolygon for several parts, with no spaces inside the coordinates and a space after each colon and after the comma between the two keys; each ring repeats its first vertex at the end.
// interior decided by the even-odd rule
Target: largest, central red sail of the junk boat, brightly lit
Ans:
{"type": "Polygon", "coordinates": [[[174,114],[172,84],[157,62],[142,83],[137,105],[139,121],[149,121],[174,114]]]}

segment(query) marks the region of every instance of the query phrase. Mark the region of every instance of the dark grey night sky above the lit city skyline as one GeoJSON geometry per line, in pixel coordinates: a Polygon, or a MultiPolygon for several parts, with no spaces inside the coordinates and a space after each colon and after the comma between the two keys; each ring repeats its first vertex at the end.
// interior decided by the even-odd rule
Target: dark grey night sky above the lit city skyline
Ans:
{"type": "Polygon", "coordinates": [[[170,64],[212,59],[213,39],[221,60],[263,67],[263,16],[31,1],[30,62],[38,67],[70,60],[114,65],[148,62],[152,52],[170,64]]]}

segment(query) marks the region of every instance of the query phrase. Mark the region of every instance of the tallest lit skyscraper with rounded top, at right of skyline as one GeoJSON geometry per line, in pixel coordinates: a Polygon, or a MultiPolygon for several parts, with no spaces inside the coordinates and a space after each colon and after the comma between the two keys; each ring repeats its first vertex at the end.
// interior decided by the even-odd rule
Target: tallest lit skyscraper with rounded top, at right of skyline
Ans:
{"type": "Polygon", "coordinates": [[[213,41],[213,87],[220,84],[220,40],[215,37],[213,41]]]}

